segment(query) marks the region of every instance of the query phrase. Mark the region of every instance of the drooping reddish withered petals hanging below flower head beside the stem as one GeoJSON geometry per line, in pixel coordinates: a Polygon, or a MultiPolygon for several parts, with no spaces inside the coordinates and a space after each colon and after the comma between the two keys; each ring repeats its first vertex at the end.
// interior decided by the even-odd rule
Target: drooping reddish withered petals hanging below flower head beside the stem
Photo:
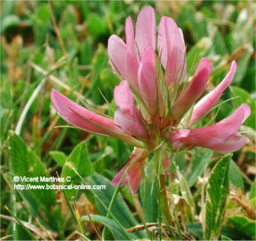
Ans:
{"type": "Polygon", "coordinates": [[[141,164],[145,159],[147,159],[148,152],[145,149],[134,149],[134,152],[132,153],[130,159],[125,164],[125,166],[116,174],[116,176],[112,180],[112,184],[117,186],[120,182],[120,179],[124,175],[125,169],[127,170],[127,167],[131,164],[131,162],[134,162],[134,164],[131,166],[129,170],[127,170],[127,176],[124,176],[122,186],[131,183],[132,191],[136,192],[138,190],[138,187],[140,186],[141,182],[141,164]],[[135,160],[136,159],[136,160],[135,160]]]}

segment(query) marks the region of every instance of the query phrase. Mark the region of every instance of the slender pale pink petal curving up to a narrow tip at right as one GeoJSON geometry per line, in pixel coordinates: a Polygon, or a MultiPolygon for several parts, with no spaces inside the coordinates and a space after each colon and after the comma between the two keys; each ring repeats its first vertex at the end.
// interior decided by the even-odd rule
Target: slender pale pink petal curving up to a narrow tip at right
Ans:
{"type": "Polygon", "coordinates": [[[216,104],[218,99],[221,97],[222,93],[227,89],[228,85],[234,78],[236,74],[236,61],[232,61],[230,72],[228,72],[227,76],[221,83],[213,89],[210,93],[205,95],[194,107],[193,114],[191,116],[191,120],[189,121],[189,125],[195,123],[198,119],[200,119],[204,114],[206,114],[213,106],[216,104]]]}

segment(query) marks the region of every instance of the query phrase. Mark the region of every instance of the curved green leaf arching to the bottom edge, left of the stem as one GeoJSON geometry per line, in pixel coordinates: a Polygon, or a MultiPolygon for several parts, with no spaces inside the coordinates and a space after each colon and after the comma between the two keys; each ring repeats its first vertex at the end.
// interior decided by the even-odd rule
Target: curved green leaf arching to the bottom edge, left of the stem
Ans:
{"type": "MultiPolygon", "coordinates": [[[[100,224],[103,224],[104,226],[107,226],[108,229],[111,231],[113,237],[115,240],[127,240],[127,236],[124,235],[124,231],[120,229],[117,224],[109,219],[108,217],[100,216],[100,215],[90,215],[90,218],[93,222],[97,222],[100,224]]],[[[88,216],[81,217],[83,222],[90,222],[90,219],[88,216]]]]}

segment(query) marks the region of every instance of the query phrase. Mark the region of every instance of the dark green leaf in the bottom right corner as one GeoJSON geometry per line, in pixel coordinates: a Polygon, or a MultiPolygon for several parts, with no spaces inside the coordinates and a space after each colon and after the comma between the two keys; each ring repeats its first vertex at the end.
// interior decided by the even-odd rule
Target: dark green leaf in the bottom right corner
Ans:
{"type": "Polygon", "coordinates": [[[244,216],[233,216],[229,217],[227,221],[227,225],[236,228],[241,233],[248,235],[252,240],[256,238],[256,221],[252,219],[248,219],[244,216]]]}

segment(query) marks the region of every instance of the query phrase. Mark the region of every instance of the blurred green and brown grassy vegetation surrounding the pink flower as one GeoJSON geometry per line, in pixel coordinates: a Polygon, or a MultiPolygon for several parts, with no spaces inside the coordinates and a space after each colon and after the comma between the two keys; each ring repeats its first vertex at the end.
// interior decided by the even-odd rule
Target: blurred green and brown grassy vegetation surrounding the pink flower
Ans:
{"type": "MultiPolygon", "coordinates": [[[[222,101],[232,100],[221,105],[216,120],[228,116],[242,102],[249,104],[252,114],[241,128],[248,143],[232,159],[225,157],[229,166],[222,161],[214,169],[217,174],[218,168],[226,170],[227,175],[215,184],[218,187],[223,181],[227,193],[216,189],[217,206],[212,211],[210,208],[207,215],[210,219],[214,217],[212,212],[219,210],[222,198],[228,196],[223,223],[215,227],[222,229],[220,238],[255,239],[253,1],[1,1],[0,4],[1,237],[100,239],[105,226],[103,233],[107,240],[147,238],[148,233],[152,239],[168,236],[172,240],[200,240],[205,225],[214,229],[211,220],[202,219],[205,209],[201,194],[221,155],[203,148],[179,152],[176,162],[180,173],[171,166],[168,186],[175,210],[175,228],[152,224],[148,233],[143,225],[141,231],[134,228],[128,232],[125,229],[161,219],[156,193],[150,193],[147,178],[138,196],[131,196],[124,187],[113,199],[111,212],[107,214],[104,208],[109,206],[115,192],[110,180],[124,166],[132,147],[75,128],[54,128],[67,123],[52,108],[49,98],[52,88],[113,115],[100,94],[104,93],[115,108],[113,88],[119,80],[108,64],[108,38],[114,33],[124,38],[125,19],[131,15],[135,20],[141,7],[149,4],[156,10],[157,22],[167,15],[184,31],[189,74],[193,74],[201,57],[211,60],[209,89],[227,74],[231,61],[237,61],[232,86],[222,97],[222,101]],[[86,182],[106,185],[106,190],[13,190],[13,176],[72,176],[75,183],[83,183],[68,167],[70,162],[86,182]],[[93,225],[94,222],[97,224],[93,225]]],[[[204,118],[202,124],[211,118],[204,118]]],[[[215,181],[212,175],[209,183],[215,181]]],[[[212,238],[211,231],[204,235],[212,238]]]]}

